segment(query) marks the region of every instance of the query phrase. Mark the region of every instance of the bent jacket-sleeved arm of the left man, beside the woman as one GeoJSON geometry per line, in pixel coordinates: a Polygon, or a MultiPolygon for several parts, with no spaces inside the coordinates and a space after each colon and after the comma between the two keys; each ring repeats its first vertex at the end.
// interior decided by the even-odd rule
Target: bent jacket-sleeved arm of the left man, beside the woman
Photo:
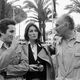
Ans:
{"type": "Polygon", "coordinates": [[[28,65],[28,57],[24,54],[24,51],[22,50],[22,48],[19,48],[16,53],[21,53],[21,59],[20,59],[20,63],[16,64],[16,65],[9,65],[7,67],[7,72],[12,73],[14,75],[23,75],[25,74],[28,69],[29,69],[29,65],[28,65]],[[21,52],[20,52],[21,51],[21,52]]]}

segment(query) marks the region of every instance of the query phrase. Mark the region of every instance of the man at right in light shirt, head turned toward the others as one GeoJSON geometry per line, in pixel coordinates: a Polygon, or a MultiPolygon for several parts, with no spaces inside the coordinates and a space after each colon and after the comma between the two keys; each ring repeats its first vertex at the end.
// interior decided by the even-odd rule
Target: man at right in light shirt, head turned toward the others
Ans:
{"type": "Polygon", "coordinates": [[[80,39],[76,35],[73,19],[65,14],[56,22],[57,36],[61,39],[56,44],[57,80],[80,80],[80,39]]]}

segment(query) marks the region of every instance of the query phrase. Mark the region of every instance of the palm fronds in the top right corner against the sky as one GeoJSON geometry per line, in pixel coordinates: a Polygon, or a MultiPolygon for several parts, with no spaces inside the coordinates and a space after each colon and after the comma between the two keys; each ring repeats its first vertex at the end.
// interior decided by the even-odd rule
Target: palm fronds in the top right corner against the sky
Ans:
{"type": "Polygon", "coordinates": [[[80,13],[80,0],[71,0],[72,3],[70,5],[67,5],[65,9],[68,9],[68,13],[76,12],[80,13]]]}

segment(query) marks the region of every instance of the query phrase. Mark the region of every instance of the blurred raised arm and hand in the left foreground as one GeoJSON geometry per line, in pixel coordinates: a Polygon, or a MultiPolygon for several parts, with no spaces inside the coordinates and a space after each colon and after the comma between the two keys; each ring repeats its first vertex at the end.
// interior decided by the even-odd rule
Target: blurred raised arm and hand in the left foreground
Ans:
{"type": "Polygon", "coordinates": [[[1,52],[0,55],[0,70],[5,69],[9,63],[10,63],[10,58],[14,54],[14,51],[16,47],[19,44],[19,37],[15,37],[12,41],[12,44],[10,48],[6,49],[5,51],[1,52]]]}

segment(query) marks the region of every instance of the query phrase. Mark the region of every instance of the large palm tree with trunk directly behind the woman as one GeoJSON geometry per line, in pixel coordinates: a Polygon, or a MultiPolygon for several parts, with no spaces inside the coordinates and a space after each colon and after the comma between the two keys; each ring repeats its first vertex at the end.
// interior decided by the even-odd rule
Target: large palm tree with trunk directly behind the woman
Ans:
{"type": "Polygon", "coordinates": [[[52,11],[49,8],[51,5],[50,0],[34,0],[34,3],[31,0],[26,0],[24,4],[26,4],[24,8],[29,9],[27,12],[33,12],[34,14],[34,16],[29,16],[29,18],[39,22],[39,28],[43,30],[43,40],[45,41],[45,22],[52,17],[52,11]]]}

